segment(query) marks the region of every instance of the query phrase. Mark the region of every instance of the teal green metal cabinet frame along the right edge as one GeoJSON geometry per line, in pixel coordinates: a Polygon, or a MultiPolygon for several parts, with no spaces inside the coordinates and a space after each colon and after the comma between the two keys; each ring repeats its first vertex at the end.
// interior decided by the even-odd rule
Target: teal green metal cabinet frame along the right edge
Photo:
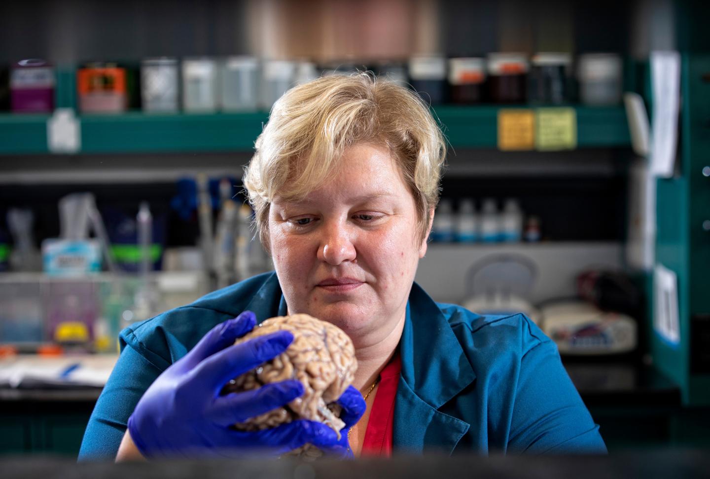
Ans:
{"type": "Polygon", "coordinates": [[[683,55],[680,170],[657,180],[656,262],[677,275],[680,340],[670,345],[653,334],[650,346],[654,364],[677,382],[689,406],[710,405],[710,230],[704,227],[710,178],[703,173],[710,151],[709,72],[710,55],[683,55]]]}

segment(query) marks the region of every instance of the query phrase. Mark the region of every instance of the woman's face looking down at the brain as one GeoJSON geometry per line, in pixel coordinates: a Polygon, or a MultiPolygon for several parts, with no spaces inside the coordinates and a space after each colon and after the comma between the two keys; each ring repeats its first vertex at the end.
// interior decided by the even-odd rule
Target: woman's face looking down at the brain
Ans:
{"type": "Polygon", "coordinates": [[[403,320],[427,243],[387,149],[346,149],[339,171],[299,203],[275,198],[268,228],[289,314],[338,325],[356,347],[403,320]]]}

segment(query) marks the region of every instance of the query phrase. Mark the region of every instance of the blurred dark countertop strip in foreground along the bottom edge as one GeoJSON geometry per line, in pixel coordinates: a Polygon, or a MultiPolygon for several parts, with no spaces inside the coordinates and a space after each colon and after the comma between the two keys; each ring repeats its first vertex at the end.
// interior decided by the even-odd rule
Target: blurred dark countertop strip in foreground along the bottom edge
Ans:
{"type": "Polygon", "coordinates": [[[4,479],[224,478],[363,479],[363,478],[707,478],[710,451],[670,450],[612,456],[397,456],[356,461],[302,463],[289,459],[249,461],[178,461],[150,463],[81,463],[53,458],[6,458],[4,479]]]}

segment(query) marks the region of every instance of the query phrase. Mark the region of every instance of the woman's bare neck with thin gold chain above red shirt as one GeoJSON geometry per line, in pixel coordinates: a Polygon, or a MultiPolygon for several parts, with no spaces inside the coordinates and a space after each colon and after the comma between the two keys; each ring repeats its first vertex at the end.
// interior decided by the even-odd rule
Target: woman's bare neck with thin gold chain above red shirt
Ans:
{"type": "Polygon", "coordinates": [[[367,392],[372,384],[377,380],[378,375],[391,360],[400,338],[404,330],[406,313],[402,315],[400,321],[395,324],[395,327],[386,333],[384,338],[366,345],[357,346],[355,348],[355,356],[357,357],[357,371],[353,386],[360,392],[367,392]]]}

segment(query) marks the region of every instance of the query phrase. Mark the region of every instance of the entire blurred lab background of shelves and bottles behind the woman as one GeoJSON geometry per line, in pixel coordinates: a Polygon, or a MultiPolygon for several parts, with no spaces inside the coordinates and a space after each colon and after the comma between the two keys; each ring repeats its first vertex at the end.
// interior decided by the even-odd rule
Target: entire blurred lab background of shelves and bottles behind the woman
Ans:
{"type": "Polygon", "coordinates": [[[449,143],[417,283],[528,314],[610,451],[708,445],[709,9],[5,1],[0,453],[75,456],[126,325],[271,270],[243,166],[283,92],[352,72],[449,143]]]}

